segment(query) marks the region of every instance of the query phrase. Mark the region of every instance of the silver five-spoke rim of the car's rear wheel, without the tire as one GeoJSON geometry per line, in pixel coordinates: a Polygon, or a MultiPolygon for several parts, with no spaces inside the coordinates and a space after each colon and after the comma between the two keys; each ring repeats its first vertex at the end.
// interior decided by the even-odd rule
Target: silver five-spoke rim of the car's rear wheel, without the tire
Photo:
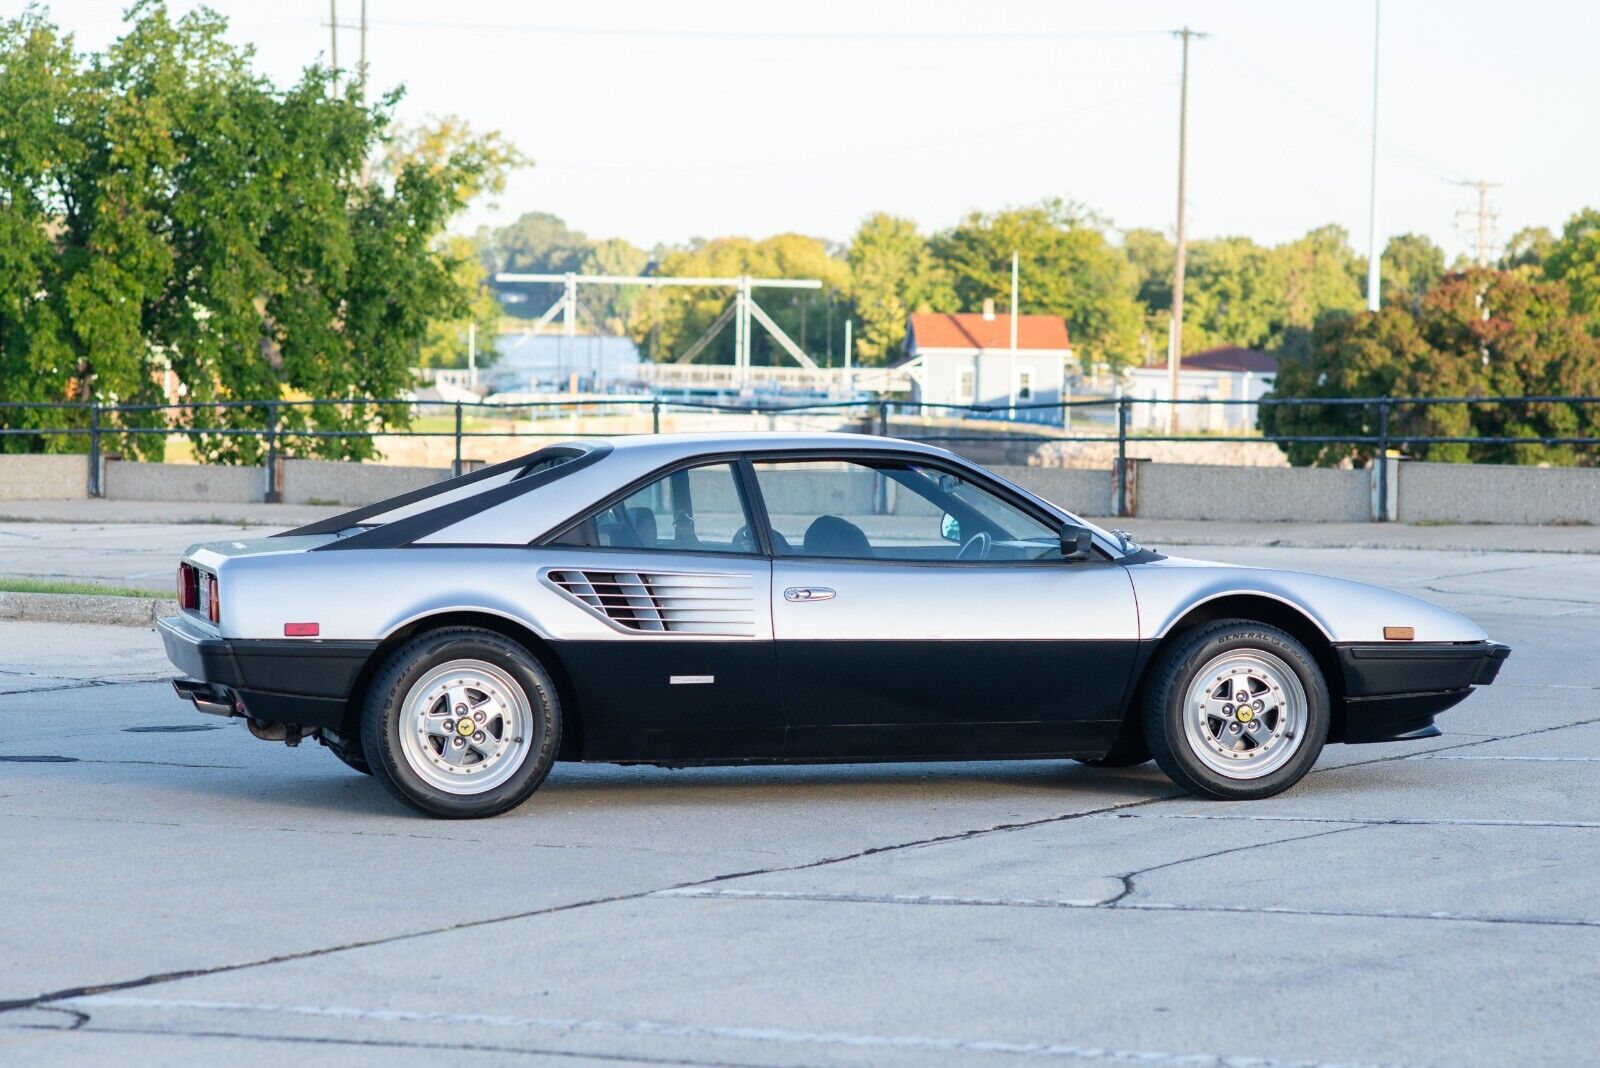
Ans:
{"type": "Polygon", "coordinates": [[[528,758],[531,729],[528,694],[483,660],[451,660],[430,670],[400,705],[406,764],[445,793],[485,793],[515,775],[528,758]]]}

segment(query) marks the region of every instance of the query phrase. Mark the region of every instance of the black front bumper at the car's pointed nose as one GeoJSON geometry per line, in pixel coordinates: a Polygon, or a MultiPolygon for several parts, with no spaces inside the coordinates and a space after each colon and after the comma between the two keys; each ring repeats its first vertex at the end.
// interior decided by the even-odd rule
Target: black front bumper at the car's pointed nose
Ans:
{"type": "Polygon", "coordinates": [[[1434,716],[1488,686],[1510,656],[1493,641],[1334,646],[1344,692],[1344,742],[1438,734],[1434,716]]]}

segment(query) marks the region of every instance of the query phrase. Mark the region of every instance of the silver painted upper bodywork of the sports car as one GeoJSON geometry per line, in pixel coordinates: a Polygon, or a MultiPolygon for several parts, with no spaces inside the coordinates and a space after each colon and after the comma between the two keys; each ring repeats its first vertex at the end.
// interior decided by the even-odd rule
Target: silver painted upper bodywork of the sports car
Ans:
{"type": "MultiPolygon", "coordinates": [[[[848,433],[661,435],[616,438],[610,446],[608,456],[582,470],[400,548],[307,552],[333,540],[331,534],[195,545],[186,558],[218,574],[221,622],[190,622],[224,638],[283,638],[285,624],[317,622],[318,636],[302,641],[382,640],[446,612],[499,616],[550,641],[1149,641],[1206,601],[1253,595],[1298,609],[1333,643],[1382,641],[1384,627],[1413,627],[1418,643],[1486,638],[1462,616],[1392,590],[1189,560],[922,564],[530,545],[653,472],[702,456],[850,449],[981,470],[944,449],[848,433]],[[552,580],[552,572],[584,569],[669,576],[670,584],[733,587],[749,596],[739,600],[739,611],[701,619],[699,627],[637,632],[618,627],[552,580]],[[786,590],[826,590],[829,596],[794,600],[786,590]]],[[[418,515],[509,478],[451,489],[368,523],[418,515]]],[[[1096,545],[1114,561],[1130,555],[1106,531],[1034,500],[1058,520],[1090,526],[1096,545]]]]}

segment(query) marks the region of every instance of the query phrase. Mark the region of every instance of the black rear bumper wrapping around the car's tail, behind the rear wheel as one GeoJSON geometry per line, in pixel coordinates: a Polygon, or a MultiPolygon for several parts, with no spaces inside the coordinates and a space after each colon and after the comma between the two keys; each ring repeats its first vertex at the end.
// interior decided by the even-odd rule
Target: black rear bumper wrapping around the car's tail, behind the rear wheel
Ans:
{"type": "Polygon", "coordinates": [[[376,641],[218,638],[182,616],[155,624],[166,659],[184,673],[178,694],[200,711],[304,727],[344,724],[376,641]]]}

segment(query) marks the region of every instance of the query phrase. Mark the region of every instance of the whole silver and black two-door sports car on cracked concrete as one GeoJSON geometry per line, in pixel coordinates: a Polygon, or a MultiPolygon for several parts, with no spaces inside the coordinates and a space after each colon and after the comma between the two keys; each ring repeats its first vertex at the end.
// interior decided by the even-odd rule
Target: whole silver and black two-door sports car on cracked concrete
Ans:
{"type": "Polygon", "coordinates": [[[192,547],[162,638],[202,711],[400,801],[504,812],[557,759],[1152,756],[1213,798],[1437,734],[1510,652],[1357,582],[1168,558],[942,449],[555,444],[192,547]]]}

